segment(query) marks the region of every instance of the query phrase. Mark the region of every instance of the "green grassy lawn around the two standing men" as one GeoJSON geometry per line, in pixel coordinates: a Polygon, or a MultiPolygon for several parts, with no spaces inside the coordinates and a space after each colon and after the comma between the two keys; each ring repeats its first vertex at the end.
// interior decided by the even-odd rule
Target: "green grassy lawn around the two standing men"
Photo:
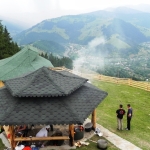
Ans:
{"type": "MultiPolygon", "coordinates": [[[[97,122],[143,150],[149,150],[150,92],[100,81],[93,81],[93,84],[108,92],[106,99],[97,107],[97,122]],[[116,130],[116,109],[118,109],[119,104],[123,104],[127,111],[128,103],[133,108],[131,130],[118,131],[116,130]]],[[[126,127],[126,116],[123,123],[126,127]]]]}

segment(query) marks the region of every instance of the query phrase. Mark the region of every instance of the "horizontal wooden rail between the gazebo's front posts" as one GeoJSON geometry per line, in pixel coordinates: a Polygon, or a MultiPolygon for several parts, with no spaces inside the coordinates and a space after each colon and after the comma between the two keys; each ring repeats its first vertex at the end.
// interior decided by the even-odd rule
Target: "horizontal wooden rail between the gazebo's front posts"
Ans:
{"type": "Polygon", "coordinates": [[[69,140],[69,136],[50,136],[50,137],[17,137],[14,141],[46,141],[46,140],[69,140]]]}

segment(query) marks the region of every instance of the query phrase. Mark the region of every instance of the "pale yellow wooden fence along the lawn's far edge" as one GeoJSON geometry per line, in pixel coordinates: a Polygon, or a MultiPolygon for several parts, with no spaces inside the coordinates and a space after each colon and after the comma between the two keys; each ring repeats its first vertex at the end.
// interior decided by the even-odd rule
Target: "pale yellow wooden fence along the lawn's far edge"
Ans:
{"type": "MultiPolygon", "coordinates": [[[[50,68],[50,69],[56,70],[56,71],[66,70],[66,71],[69,71],[69,72],[74,73],[76,75],[79,75],[81,77],[87,78],[89,80],[101,80],[101,81],[111,82],[111,83],[115,83],[115,84],[125,84],[125,85],[132,86],[135,88],[150,91],[150,82],[134,81],[134,80],[129,79],[129,78],[109,77],[109,76],[104,76],[104,75],[96,74],[96,73],[81,73],[81,72],[69,70],[65,67],[55,67],[55,68],[50,68]]],[[[2,86],[4,86],[4,84],[2,81],[0,81],[0,87],[2,87],[2,86]]]]}

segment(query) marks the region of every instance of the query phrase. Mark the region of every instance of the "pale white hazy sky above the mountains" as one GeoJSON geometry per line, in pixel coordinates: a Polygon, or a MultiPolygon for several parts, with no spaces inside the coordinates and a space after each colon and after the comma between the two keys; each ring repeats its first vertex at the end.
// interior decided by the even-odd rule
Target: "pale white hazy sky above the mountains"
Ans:
{"type": "Polygon", "coordinates": [[[150,0],[0,0],[0,18],[31,27],[45,19],[138,4],[150,0]]]}

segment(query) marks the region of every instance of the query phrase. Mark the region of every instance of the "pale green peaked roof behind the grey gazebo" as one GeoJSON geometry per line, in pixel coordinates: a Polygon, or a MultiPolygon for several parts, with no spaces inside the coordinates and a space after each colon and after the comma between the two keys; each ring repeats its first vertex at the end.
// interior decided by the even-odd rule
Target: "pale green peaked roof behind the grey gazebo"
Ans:
{"type": "Polygon", "coordinates": [[[36,48],[26,46],[12,57],[0,60],[0,80],[8,80],[33,72],[41,67],[53,67],[36,48]]]}

